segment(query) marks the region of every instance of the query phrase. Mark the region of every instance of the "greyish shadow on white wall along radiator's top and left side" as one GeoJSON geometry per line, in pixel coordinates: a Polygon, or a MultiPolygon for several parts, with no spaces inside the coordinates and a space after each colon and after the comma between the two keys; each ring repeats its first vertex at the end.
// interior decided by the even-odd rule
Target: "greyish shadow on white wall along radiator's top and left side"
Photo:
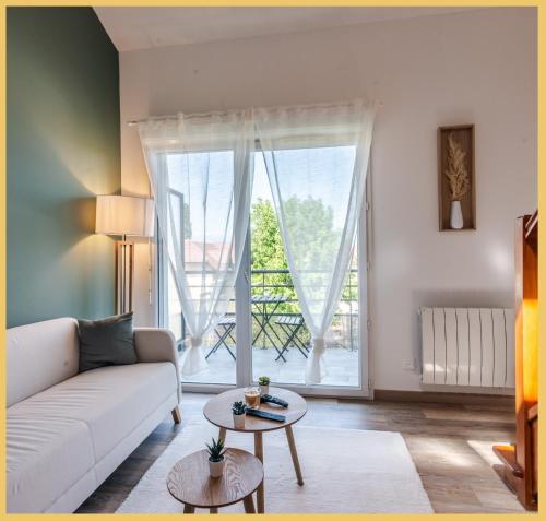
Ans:
{"type": "Polygon", "coordinates": [[[416,360],[415,371],[420,371],[422,365],[422,332],[419,308],[513,308],[513,292],[491,292],[488,289],[453,289],[434,291],[422,289],[412,293],[412,309],[415,315],[412,319],[413,358],[416,360]]]}

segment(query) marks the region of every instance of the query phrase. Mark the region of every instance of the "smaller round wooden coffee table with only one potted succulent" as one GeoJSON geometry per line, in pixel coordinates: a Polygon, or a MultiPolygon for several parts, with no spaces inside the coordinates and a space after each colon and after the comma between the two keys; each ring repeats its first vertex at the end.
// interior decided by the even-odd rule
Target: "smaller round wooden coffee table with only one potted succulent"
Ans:
{"type": "Polygon", "coordinates": [[[209,453],[200,450],[182,458],[167,476],[167,488],[174,498],[183,502],[183,513],[207,508],[218,513],[219,507],[238,501],[245,512],[254,513],[252,493],[263,482],[263,466],[256,455],[240,449],[227,449],[224,474],[211,477],[209,453]]]}

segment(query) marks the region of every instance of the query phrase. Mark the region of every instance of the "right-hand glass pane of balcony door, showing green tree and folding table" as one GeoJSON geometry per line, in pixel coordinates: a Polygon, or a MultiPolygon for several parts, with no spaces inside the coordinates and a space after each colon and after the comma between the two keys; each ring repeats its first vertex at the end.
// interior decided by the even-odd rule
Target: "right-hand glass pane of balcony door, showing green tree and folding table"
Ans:
{"type": "MultiPolygon", "coordinates": [[[[305,368],[311,335],[288,268],[278,220],[261,154],[254,162],[250,212],[250,309],[252,316],[252,379],[266,375],[282,384],[305,384],[305,368]]],[[[317,240],[308,241],[311,256],[319,257],[335,223],[322,199],[293,198],[297,218],[312,220],[317,240]]],[[[356,239],[356,237],[355,237],[356,239]]],[[[327,339],[321,387],[360,387],[358,245],[353,244],[342,297],[327,339]]]]}

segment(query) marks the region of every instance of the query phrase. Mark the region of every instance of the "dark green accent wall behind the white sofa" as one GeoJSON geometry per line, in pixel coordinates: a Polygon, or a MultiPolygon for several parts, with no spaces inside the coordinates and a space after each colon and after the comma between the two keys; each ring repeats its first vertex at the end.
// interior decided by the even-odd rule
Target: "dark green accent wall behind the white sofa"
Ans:
{"type": "Polygon", "coordinates": [[[8,327],[114,313],[118,52],[91,8],[8,8],[8,327]]]}

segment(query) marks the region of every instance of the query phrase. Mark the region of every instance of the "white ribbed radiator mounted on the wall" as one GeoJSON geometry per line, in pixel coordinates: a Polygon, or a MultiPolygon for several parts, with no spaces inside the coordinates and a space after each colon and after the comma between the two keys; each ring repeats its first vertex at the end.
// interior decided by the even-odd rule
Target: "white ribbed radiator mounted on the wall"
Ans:
{"type": "Polygon", "coordinates": [[[514,387],[513,309],[420,308],[423,383],[514,387]]]}

